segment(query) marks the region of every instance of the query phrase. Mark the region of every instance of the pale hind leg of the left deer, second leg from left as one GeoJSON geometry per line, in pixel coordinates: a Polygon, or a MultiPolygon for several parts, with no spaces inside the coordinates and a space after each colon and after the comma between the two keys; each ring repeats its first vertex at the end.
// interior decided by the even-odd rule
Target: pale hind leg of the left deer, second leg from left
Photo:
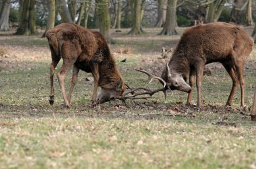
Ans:
{"type": "Polygon", "coordinates": [[[67,99],[67,94],[65,92],[64,79],[65,79],[65,74],[67,74],[67,72],[69,71],[73,63],[74,62],[71,62],[71,60],[63,60],[63,65],[61,66],[61,70],[59,70],[59,72],[57,73],[59,86],[61,87],[61,93],[67,108],[70,108],[70,103],[69,103],[69,100],[67,99]]]}

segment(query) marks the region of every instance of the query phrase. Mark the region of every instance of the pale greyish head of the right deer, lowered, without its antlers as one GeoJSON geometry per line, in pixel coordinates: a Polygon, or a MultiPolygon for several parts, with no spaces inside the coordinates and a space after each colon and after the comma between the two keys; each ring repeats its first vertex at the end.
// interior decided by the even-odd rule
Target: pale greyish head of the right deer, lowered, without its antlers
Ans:
{"type": "Polygon", "coordinates": [[[166,84],[170,89],[172,90],[179,90],[179,91],[185,91],[189,93],[191,91],[191,87],[187,82],[185,82],[183,78],[183,74],[175,73],[170,70],[170,67],[166,63],[166,66],[162,72],[162,79],[166,81],[166,84]]]}

